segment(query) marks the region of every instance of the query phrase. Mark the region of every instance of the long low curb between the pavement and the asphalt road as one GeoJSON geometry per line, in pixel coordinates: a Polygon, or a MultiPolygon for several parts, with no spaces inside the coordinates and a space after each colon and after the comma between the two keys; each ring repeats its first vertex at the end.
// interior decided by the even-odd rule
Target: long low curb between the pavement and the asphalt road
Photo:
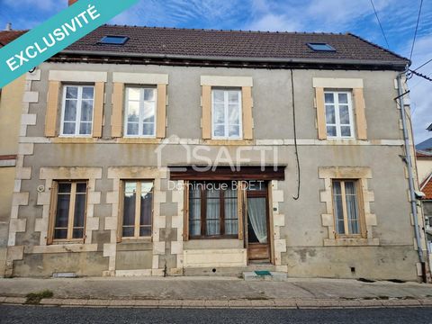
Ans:
{"type": "MultiPolygon", "coordinates": [[[[0,296],[0,304],[26,304],[23,297],[0,296]]],[[[102,300],[49,298],[40,301],[40,306],[59,307],[111,307],[151,309],[358,309],[432,307],[432,299],[388,299],[388,300],[331,300],[331,299],[276,299],[276,300],[102,300]]]]}

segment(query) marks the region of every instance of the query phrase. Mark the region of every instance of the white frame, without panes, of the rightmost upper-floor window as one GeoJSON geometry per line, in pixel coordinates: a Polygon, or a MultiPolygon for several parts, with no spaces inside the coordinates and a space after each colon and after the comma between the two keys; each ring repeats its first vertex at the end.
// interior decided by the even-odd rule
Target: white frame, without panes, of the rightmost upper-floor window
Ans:
{"type": "MultiPolygon", "coordinates": [[[[326,117],[326,133],[329,139],[354,139],[356,137],[355,127],[354,127],[354,112],[353,112],[353,102],[352,102],[352,94],[351,91],[324,91],[324,113],[326,117]],[[333,103],[326,103],[326,94],[333,94],[333,103]],[[340,113],[339,113],[339,95],[338,94],[347,94],[347,105],[348,105],[348,115],[349,115],[349,125],[340,123],[340,113]],[[335,121],[336,123],[328,123],[327,122],[327,105],[335,106],[335,121]],[[329,135],[327,131],[328,126],[336,126],[336,136],[329,135]],[[341,126],[349,126],[351,136],[342,136],[341,126]]],[[[346,103],[342,103],[346,105],[346,103]]]]}

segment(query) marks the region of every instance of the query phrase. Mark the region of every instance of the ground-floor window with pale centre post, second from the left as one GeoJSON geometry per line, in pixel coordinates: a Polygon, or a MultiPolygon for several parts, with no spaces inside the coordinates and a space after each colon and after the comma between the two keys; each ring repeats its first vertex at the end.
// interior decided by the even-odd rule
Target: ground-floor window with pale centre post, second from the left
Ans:
{"type": "Polygon", "coordinates": [[[124,181],[123,188],[121,237],[150,237],[153,181],[124,181]]]}

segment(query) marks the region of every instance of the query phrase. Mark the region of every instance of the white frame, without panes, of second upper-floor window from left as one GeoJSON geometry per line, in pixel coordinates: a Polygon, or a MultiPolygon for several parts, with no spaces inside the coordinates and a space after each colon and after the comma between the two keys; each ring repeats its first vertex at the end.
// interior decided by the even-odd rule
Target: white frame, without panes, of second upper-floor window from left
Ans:
{"type": "Polygon", "coordinates": [[[157,130],[157,87],[156,86],[133,86],[129,85],[125,87],[125,103],[124,103],[124,131],[123,136],[125,138],[147,138],[147,139],[156,139],[156,130],[157,130]],[[139,121],[138,121],[138,135],[129,135],[128,134],[128,110],[129,110],[129,88],[139,89],[139,121]],[[143,135],[143,115],[144,115],[144,90],[151,89],[155,92],[155,121],[153,125],[153,134],[151,135],[143,135]]]}

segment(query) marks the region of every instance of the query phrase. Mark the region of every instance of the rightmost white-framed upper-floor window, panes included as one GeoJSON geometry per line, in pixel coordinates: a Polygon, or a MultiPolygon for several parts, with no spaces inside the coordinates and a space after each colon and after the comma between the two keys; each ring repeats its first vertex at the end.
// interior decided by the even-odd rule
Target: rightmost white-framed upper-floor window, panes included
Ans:
{"type": "Polygon", "coordinates": [[[354,138],[353,108],[351,93],[347,91],[326,91],[326,126],[329,138],[354,138]]]}

